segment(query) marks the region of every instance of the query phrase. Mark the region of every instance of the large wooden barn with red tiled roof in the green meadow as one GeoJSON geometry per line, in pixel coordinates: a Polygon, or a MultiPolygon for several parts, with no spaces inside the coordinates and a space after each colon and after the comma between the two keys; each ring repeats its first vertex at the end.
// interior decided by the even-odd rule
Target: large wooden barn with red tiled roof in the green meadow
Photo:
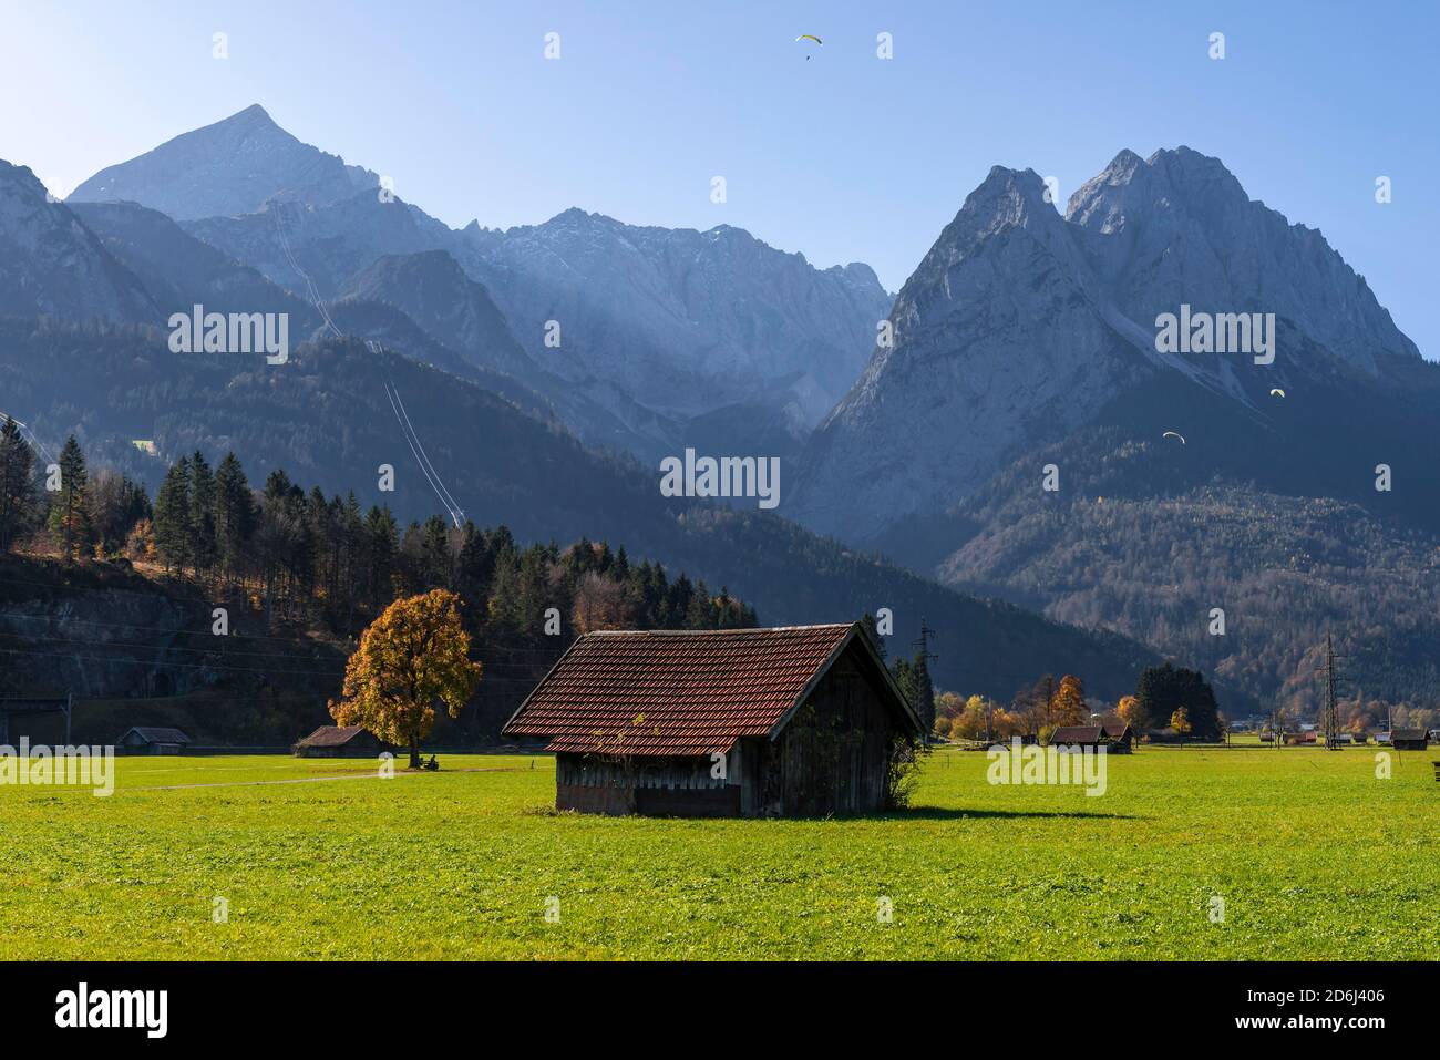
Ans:
{"type": "Polygon", "coordinates": [[[924,726],[851,624],[586,634],[504,733],[556,753],[556,809],[811,817],[884,809],[924,726]]]}

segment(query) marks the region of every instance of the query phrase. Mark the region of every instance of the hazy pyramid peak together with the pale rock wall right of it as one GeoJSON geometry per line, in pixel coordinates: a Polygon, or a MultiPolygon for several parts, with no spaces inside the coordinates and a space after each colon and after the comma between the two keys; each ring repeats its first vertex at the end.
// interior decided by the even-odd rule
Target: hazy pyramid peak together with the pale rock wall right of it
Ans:
{"type": "Polygon", "coordinates": [[[456,232],[258,107],[112,166],[72,199],[170,213],[323,301],[351,292],[380,258],[445,251],[550,377],[527,382],[582,438],[647,462],[696,438],[749,451],[759,435],[798,451],[854,380],[890,304],[865,265],[816,269],[729,226],[636,228],[572,209],[543,225],[456,232]],[[549,321],[559,346],[546,343],[549,321]]]}

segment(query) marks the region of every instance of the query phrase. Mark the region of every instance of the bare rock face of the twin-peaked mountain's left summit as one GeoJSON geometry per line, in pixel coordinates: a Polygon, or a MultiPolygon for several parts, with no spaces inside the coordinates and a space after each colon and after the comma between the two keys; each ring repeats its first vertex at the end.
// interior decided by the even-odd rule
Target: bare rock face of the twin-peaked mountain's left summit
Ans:
{"type": "Polygon", "coordinates": [[[1001,167],[971,193],[901,288],[893,344],[812,436],[786,514],[867,540],[945,510],[1136,367],[1044,194],[1001,167]]]}

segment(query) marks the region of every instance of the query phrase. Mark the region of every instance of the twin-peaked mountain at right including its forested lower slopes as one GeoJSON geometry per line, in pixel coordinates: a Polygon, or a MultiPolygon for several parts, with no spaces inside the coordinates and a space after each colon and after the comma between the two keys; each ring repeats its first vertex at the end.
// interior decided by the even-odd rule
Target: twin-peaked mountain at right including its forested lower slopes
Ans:
{"type": "Polygon", "coordinates": [[[1428,701],[1440,369],[1218,160],[1122,151],[1063,215],[995,167],[890,323],[783,514],[1266,700],[1312,710],[1333,632],[1351,696],[1428,701]],[[1240,314],[1269,350],[1164,337],[1240,314]]]}

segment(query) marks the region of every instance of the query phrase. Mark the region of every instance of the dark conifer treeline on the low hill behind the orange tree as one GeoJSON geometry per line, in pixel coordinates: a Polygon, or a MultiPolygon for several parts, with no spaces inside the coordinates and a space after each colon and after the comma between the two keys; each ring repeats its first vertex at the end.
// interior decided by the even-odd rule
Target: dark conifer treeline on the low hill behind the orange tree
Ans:
{"type": "Polygon", "coordinates": [[[580,539],[521,547],[504,526],[455,527],[439,516],[400,527],[387,507],[308,493],[284,471],[253,488],[235,454],[212,468],[196,452],[166,472],[154,501],[143,485],[92,475],[72,436],[58,470],[37,467],[23,431],[0,426],[0,550],[22,543],[86,556],[153,562],[216,593],[243,593],[269,624],[354,635],[397,596],[446,588],[467,622],[505,641],[567,644],[603,628],[726,629],[756,625],[755,609],[721,588],[671,579],[624,546],[580,539]]]}

